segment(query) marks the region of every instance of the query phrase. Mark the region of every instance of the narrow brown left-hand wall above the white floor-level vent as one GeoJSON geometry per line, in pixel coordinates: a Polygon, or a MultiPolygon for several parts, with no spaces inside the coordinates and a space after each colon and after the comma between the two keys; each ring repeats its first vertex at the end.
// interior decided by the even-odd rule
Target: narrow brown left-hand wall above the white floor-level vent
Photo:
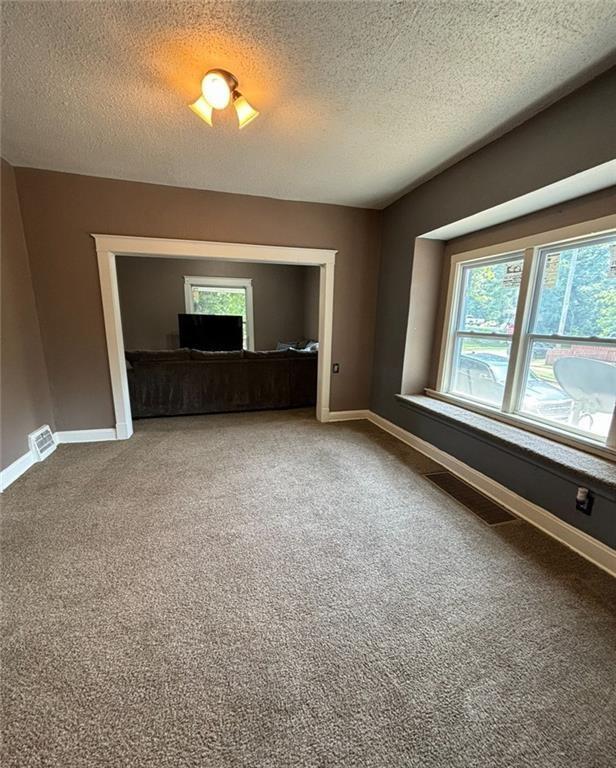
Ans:
{"type": "Polygon", "coordinates": [[[5,469],[27,452],[27,435],[43,424],[53,429],[54,420],[15,175],[4,160],[1,177],[0,466],[5,469]]]}

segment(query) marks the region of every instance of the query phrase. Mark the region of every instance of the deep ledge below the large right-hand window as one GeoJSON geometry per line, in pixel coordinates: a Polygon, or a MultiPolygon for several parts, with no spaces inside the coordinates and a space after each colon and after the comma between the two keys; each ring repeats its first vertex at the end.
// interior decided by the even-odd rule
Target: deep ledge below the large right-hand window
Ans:
{"type": "Polygon", "coordinates": [[[569,480],[596,488],[605,488],[612,496],[616,492],[616,467],[611,459],[595,456],[536,435],[517,426],[484,416],[475,411],[453,405],[427,395],[396,395],[403,405],[427,412],[433,418],[460,427],[477,437],[500,444],[516,455],[524,455],[549,467],[569,480]]]}

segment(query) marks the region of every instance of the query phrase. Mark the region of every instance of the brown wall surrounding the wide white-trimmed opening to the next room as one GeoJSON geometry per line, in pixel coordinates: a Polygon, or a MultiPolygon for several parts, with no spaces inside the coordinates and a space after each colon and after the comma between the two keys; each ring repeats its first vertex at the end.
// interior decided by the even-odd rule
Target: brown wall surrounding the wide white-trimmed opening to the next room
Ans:
{"type": "Polygon", "coordinates": [[[114,425],[91,233],[337,249],[331,407],[368,406],[378,211],[28,168],[16,176],[59,429],[114,425]]]}

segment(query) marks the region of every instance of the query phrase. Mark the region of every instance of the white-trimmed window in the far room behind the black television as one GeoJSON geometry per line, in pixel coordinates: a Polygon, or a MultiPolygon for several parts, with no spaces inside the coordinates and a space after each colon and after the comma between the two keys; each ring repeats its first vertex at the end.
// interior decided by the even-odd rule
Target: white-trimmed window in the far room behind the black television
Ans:
{"type": "Polygon", "coordinates": [[[186,312],[241,315],[244,349],[254,349],[252,280],[238,277],[185,277],[186,312]]]}

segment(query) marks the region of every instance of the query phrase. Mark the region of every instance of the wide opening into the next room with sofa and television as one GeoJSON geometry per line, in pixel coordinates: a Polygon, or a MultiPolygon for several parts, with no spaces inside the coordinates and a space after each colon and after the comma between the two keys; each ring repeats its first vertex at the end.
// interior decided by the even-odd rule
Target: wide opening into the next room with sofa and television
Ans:
{"type": "Polygon", "coordinates": [[[319,267],[116,256],[132,418],[315,408],[319,267]]]}

